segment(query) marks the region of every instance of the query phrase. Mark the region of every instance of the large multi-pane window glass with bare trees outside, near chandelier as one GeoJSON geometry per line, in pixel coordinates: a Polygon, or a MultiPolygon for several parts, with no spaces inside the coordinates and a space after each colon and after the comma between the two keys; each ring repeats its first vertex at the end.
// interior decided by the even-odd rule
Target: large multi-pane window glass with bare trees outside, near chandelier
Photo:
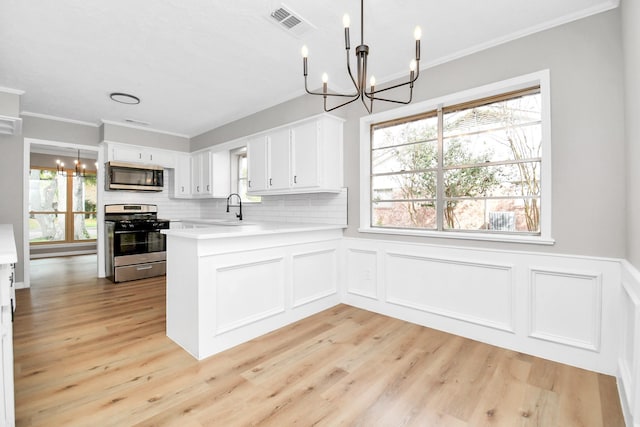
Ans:
{"type": "Polygon", "coordinates": [[[543,117],[536,84],[407,117],[374,118],[366,228],[548,237],[541,221],[548,212],[542,209],[543,117]]]}

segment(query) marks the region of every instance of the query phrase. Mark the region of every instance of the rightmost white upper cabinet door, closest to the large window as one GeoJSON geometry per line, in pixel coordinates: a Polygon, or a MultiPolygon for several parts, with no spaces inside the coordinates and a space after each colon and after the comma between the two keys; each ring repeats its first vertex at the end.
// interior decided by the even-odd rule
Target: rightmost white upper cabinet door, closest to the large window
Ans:
{"type": "Polygon", "coordinates": [[[318,122],[313,121],[291,129],[291,187],[320,186],[320,145],[318,122]]]}

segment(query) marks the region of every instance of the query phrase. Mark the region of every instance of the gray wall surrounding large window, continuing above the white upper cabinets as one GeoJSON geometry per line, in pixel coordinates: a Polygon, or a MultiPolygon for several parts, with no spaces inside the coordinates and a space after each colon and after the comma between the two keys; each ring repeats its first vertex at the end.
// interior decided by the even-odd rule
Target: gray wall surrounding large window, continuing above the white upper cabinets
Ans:
{"type": "MultiPolygon", "coordinates": [[[[428,47],[423,59],[428,61],[428,47]]],[[[552,247],[385,236],[435,244],[511,248],[555,253],[625,256],[625,144],[623,56],[618,10],[533,34],[424,71],[414,100],[426,100],[542,69],[551,72],[552,247]]],[[[636,74],[637,75],[637,74],[636,74]]],[[[300,83],[302,84],[302,82],[300,83]]],[[[376,111],[393,108],[377,104],[376,111]]],[[[194,138],[202,148],[318,114],[322,100],[304,96],[194,138]]],[[[354,103],[345,123],[347,236],[358,233],[359,119],[354,103]]],[[[640,255],[640,253],[639,253],[640,255]]]]}

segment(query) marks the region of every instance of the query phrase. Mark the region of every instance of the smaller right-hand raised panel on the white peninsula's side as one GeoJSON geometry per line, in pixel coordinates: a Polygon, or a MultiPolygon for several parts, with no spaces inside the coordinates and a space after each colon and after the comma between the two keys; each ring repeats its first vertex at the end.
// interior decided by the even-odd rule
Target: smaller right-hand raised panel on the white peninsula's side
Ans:
{"type": "Polygon", "coordinates": [[[337,250],[321,250],[292,255],[293,307],[338,292],[337,250]]]}

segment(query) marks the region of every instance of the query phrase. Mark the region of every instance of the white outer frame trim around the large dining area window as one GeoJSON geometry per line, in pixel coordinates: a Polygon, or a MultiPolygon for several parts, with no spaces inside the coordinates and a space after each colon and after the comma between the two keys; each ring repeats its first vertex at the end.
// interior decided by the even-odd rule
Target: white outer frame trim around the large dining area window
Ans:
{"type": "MultiPolygon", "coordinates": [[[[364,116],[360,119],[360,226],[361,233],[424,236],[449,239],[488,240],[501,242],[554,244],[551,237],[551,107],[549,70],[491,83],[477,88],[445,95],[405,107],[364,116]],[[415,228],[384,228],[371,225],[371,136],[372,125],[383,122],[406,121],[410,117],[424,116],[433,110],[472,106],[487,98],[504,97],[514,91],[540,86],[542,120],[542,160],[540,170],[540,234],[491,233],[480,230],[425,230],[415,228]]],[[[438,213],[440,215],[440,213],[438,213]]]]}

